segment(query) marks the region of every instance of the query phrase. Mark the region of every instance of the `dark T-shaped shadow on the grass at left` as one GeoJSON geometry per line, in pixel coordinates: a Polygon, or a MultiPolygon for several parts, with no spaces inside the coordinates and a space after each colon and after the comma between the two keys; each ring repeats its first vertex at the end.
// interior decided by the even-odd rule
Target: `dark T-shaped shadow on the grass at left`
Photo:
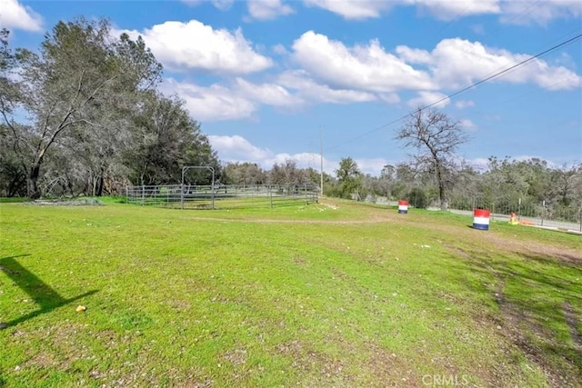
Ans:
{"type": "Polygon", "coordinates": [[[18,257],[24,256],[29,256],[29,254],[0,258],[0,269],[18,287],[20,287],[22,291],[27,293],[30,298],[40,306],[40,308],[32,313],[27,313],[19,318],[15,318],[12,321],[5,322],[5,328],[15,326],[18,323],[23,323],[43,313],[49,313],[56,308],[62,307],[68,303],[73,303],[78,299],[97,292],[97,290],[92,290],[87,293],[77,295],[73,298],[66,299],[15,260],[18,257]]]}

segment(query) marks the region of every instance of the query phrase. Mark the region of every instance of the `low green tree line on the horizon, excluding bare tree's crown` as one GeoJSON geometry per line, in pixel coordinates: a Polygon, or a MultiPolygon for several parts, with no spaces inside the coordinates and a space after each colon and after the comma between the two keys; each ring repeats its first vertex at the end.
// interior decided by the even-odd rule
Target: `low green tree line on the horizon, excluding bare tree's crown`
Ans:
{"type": "MultiPolygon", "coordinates": [[[[437,174],[431,168],[410,162],[385,165],[378,176],[364,174],[351,157],[342,158],[335,174],[323,173],[324,194],[354,200],[377,197],[389,201],[409,200],[416,207],[441,204],[444,190],[445,206],[474,201],[475,204],[542,204],[547,207],[582,205],[582,165],[556,166],[530,158],[490,157],[487,167],[477,169],[471,164],[450,163],[443,171],[446,179],[440,187],[437,174]]],[[[320,172],[313,168],[298,168],[296,162],[274,164],[265,170],[258,164],[228,163],[222,175],[223,184],[313,184],[319,186],[320,172]]]]}

